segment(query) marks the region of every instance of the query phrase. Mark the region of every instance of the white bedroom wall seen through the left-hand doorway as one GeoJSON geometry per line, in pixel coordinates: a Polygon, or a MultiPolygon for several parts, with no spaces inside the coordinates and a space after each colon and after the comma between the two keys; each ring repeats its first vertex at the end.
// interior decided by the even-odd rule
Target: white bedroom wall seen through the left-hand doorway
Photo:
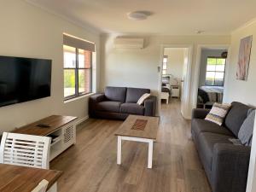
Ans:
{"type": "Polygon", "coordinates": [[[165,48],[164,55],[167,55],[166,74],[172,74],[180,84],[183,78],[183,65],[185,49],[183,48],[165,48]]]}

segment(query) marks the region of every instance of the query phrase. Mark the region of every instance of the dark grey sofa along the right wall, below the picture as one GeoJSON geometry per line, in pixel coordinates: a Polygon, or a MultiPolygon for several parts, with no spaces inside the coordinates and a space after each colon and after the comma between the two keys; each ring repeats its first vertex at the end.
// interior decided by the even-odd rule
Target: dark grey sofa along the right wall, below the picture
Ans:
{"type": "Polygon", "coordinates": [[[213,192],[246,191],[251,148],[235,145],[229,139],[237,138],[248,109],[247,105],[232,102],[222,126],[204,119],[209,110],[193,110],[192,137],[213,192]]]}

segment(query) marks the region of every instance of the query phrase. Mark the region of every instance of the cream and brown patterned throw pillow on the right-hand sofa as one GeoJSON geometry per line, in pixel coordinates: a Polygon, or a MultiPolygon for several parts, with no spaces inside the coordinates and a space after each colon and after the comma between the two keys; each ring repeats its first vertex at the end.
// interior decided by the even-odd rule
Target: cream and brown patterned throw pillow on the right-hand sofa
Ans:
{"type": "Polygon", "coordinates": [[[206,120],[217,125],[222,125],[226,114],[229,112],[230,104],[220,104],[215,102],[211,111],[207,114],[206,120]]]}

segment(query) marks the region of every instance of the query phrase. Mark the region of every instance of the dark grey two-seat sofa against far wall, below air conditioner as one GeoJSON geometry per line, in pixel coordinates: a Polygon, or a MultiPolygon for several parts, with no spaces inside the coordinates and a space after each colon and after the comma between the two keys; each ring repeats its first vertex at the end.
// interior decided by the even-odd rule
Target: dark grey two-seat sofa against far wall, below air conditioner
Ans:
{"type": "Polygon", "coordinates": [[[138,99],[148,89],[130,87],[111,87],[105,93],[90,96],[89,114],[93,118],[126,119],[129,114],[154,116],[157,98],[150,96],[143,105],[138,105],[138,99]]]}

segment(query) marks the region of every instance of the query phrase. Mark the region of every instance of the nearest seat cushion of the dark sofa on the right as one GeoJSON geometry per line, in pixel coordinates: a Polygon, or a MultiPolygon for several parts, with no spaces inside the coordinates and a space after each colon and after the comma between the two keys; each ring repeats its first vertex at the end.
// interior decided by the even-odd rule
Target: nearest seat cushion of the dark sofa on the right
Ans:
{"type": "Polygon", "coordinates": [[[217,133],[211,132],[201,132],[200,136],[198,137],[198,151],[201,156],[201,161],[204,162],[204,165],[207,168],[212,170],[212,154],[213,154],[213,147],[216,143],[230,143],[230,136],[224,136],[217,133]]]}

